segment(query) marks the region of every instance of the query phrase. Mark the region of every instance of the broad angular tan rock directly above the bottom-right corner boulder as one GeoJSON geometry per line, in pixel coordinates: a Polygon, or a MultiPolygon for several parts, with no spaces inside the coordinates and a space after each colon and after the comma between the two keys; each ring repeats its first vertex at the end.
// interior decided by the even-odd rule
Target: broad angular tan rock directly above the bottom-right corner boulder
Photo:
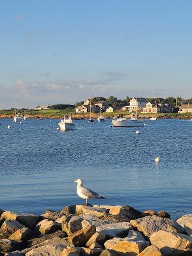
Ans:
{"type": "Polygon", "coordinates": [[[131,225],[136,227],[140,232],[143,232],[144,236],[150,237],[154,232],[159,230],[166,230],[168,232],[180,232],[184,230],[180,225],[168,218],[161,218],[159,216],[147,216],[138,220],[131,220],[131,225]]]}

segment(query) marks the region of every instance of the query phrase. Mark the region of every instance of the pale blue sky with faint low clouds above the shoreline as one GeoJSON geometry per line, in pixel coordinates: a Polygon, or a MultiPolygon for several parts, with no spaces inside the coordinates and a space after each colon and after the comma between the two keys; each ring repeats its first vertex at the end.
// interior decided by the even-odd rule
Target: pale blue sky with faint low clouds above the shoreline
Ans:
{"type": "Polygon", "coordinates": [[[0,108],[192,97],[192,1],[1,0],[0,108]]]}

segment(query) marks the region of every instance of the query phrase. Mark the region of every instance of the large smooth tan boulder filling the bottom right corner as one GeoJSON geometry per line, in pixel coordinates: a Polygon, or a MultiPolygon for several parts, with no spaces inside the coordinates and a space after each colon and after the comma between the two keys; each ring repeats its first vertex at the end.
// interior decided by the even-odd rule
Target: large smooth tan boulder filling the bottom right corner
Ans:
{"type": "Polygon", "coordinates": [[[150,236],[150,243],[166,256],[192,255],[192,237],[159,230],[150,236]]]}

